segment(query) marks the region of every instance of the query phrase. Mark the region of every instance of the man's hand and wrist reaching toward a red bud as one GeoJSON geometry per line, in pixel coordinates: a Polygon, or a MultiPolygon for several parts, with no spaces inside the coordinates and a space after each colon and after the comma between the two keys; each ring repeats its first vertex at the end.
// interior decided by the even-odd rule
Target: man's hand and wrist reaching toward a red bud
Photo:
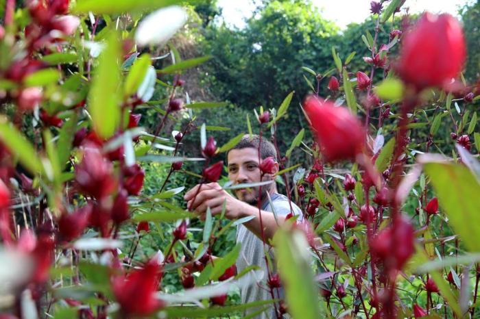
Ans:
{"type": "Polygon", "coordinates": [[[241,218],[250,208],[247,207],[250,206],[247,203],[243,203],[228,194],[218,183],[198,184],[189,190],[183,198],[187,201],[187,208],[199,214],[201,220],[205,219],[207,207],[210,207],[212,215],[220,214],[224,202],[226,202],[225,216],[228,219],[241,218]]]}

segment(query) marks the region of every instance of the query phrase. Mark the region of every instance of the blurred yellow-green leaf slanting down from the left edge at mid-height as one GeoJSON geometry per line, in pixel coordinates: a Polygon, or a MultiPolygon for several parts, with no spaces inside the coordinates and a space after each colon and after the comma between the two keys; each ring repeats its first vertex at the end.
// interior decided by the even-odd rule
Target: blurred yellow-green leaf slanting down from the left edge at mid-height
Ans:
{"type": "Polygon", "coordinates": [[[0,116],[0,140],[14,155],[19,157],[21,164],[30,173],[43,173],[43,165],[34,146],[3,116],[0,116]]]}

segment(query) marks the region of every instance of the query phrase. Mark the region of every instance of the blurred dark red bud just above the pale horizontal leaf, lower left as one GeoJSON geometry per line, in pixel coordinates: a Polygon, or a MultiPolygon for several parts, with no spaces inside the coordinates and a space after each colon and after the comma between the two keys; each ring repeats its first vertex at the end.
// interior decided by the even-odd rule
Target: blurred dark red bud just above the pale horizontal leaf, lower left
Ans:
{"type": "Polygon", "coordinates": [[[58,220],[58,235],[60,240],[70,242],[82,235],[85,227],[88,225],[91,214],[91,204],[87,204],[71,214],[63,212],[58,220]]]}

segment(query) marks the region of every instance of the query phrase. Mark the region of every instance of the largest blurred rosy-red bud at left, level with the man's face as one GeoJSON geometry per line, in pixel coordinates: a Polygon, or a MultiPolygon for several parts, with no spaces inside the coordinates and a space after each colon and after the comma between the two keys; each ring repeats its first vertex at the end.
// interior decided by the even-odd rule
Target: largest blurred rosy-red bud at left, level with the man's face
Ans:
{"type": "Polygon", "coordinates": [[[112,163],[95,147],[86,147],[82,162],[75,166],[75,181],[84,194],[96,199],[110,194],[117,186],[112,163]]]}

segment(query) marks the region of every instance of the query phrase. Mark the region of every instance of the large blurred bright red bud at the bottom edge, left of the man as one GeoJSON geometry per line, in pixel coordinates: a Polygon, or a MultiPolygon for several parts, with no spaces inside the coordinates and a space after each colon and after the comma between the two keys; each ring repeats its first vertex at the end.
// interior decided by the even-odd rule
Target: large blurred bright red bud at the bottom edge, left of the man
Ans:
{"type": "Polygon", "coordinates": [[[149,316],[165,303],[156,298],[160,267],[148,262],[142,269],[132,270],[126,277],[112,279],[112,292],[127,318],[149,316]]]}

